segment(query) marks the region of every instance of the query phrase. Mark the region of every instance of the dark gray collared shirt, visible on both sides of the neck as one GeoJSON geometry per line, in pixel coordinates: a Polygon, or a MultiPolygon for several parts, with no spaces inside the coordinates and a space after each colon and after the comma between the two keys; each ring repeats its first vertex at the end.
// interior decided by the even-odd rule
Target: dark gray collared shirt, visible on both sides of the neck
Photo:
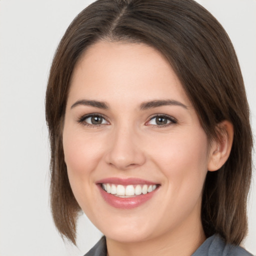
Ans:
{"type": "MultiPolygon", "coordinates": [[[[106,256],[106,239],[101,239],[84,256],[106,256]]],[[[226,244],[217,234],[207,238],[191,256],[253,256],[240,246],[226,244]]]]}

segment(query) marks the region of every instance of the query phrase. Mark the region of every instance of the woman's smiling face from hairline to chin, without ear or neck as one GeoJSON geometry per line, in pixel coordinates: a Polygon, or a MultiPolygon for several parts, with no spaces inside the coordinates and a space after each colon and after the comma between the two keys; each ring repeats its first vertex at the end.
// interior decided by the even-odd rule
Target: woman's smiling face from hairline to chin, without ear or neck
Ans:
{"type": "Polygon", "coordinates": [[[70,83],[63,149],[74,196],[102,233],[144,241],[201,227],[208,141],[168,61],[97,42],[70,83]]]}

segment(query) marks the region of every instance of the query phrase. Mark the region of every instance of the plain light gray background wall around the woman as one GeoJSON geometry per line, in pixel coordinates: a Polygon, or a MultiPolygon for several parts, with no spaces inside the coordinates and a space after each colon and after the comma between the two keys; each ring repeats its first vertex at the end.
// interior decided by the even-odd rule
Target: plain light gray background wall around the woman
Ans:
{"type": "MultiPolygon", "coordinates": [[[[0,255],[83,255],[100,237],[85,216],[78,248],[63,243],[48,203],[49,146],[44,92],[68,24],[91,0],[0,0],[0,255]]],[[[227,30],[256,125],[256,0],[198,0],[227,30]]],[[[256,163],[254,155],[254,164],[256,163]]],[[[256,175],[245,247],[256,254],[256,175]]]]}

